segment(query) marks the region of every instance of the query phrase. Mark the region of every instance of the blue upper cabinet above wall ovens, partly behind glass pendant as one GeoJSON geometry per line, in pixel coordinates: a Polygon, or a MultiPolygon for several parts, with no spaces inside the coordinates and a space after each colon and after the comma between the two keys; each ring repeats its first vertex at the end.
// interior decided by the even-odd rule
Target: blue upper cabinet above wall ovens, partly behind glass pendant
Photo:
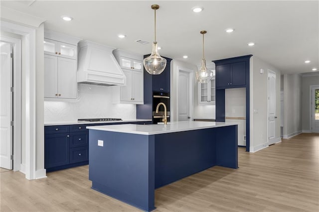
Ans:
{"type": "Polygon", "coordinates": [[[166,67],[159,75],[152,76],[153,91],[169,92],[170,91],[170,59],[166,59],[166,67]]]}

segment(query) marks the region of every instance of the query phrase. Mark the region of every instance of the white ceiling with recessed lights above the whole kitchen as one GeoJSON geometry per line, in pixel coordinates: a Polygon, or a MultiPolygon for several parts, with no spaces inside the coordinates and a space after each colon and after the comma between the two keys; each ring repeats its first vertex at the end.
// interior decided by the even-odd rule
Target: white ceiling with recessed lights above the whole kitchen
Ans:
{"type": "Polygon", "coordinates": [[[252,54],[282,73],[319,69],[319,1],[3,1],[1,6],[46,19],[45,29],[128,51],[149,54],[157,40],[160,54],[198,65],[205,35],[205,57],[212,60],[252,54]],[[30,5],[31,3],[31,5],[30,5]],[[191,8],[202,6],[194,13],[191,8]],[[74,19],[66,22],[61,15],[74,19]],[[226,33],[226,28],[234,28],[226,33]],[[120,39],[118,34],[127,35],[120,39]],[[142,45],[135,40],[149,41],[142,45]],[[248,42],[255,42],[249,47],[248,42]],[[188,55],[183,59],[183,55],[188,55]],[[305,60],[311,63],[305,64],[305,60]]]}

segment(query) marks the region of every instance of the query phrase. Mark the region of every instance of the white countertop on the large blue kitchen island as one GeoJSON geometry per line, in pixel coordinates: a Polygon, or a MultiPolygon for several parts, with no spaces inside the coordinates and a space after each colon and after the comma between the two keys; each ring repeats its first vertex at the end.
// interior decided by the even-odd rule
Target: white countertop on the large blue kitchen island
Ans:
{"type": "Polygon", "coordinates": [[[237,123],[226,122],[210,122],[210,121],[177,121],[164,124],[121,124],[121,125],[100,125],[100,126],[87,126],[87,129],[104,130],[111,132],[123,132],[142,135],[155,135],[170,132],[181,132],[196,129],[206,129],[222,126],[237,125],[237,123]]]}

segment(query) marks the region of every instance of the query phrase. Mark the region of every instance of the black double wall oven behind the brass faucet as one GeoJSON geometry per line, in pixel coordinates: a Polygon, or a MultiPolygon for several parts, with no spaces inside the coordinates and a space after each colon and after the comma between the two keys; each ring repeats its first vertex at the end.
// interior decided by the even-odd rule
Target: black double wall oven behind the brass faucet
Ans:
{"type": "Polygon", "coordinates": [[[159,103],[164,103],[167,109],[167,121],[170,120],[170,99],[169,93],[166,92],[153,92],[153,116],[152,123],[162,122],[164,115],[164,107],[159,107],[159,112],[156,112],[156,107],[159,103]]]}

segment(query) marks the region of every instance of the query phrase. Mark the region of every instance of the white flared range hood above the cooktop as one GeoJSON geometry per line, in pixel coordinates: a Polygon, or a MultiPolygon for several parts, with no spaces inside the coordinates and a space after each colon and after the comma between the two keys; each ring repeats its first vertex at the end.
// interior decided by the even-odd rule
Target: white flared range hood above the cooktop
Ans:
{"type": "Polygon", "coordinates": [[[114,48],[87,40],[79,42],[78,48],[78,83],[126,85],[126,76],[112,53],[114,48]]]}

